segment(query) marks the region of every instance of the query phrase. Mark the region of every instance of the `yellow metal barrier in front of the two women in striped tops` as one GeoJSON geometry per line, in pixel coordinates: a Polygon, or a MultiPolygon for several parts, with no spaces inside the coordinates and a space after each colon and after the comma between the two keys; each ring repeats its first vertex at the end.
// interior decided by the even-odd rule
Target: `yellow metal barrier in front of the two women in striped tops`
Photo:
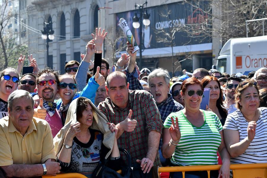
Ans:
{"type": "MultiPolygon", "coordinates": [[[[220,167],[221,165],[159,167],[158,177],[160,172],[182,172],[185,178],[186,171],[207,171],[210,178],[210,171],[219,170],[220,167]]],[[[230,169],[233,170],[233,178],[267,178],[267,163],[231,164],[230,169]]]]}

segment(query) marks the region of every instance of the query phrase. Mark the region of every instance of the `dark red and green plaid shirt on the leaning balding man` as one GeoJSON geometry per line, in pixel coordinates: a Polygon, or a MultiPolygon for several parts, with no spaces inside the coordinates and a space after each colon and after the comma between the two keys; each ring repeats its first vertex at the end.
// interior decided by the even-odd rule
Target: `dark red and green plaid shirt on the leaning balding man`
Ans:
{"type": "MultiPolygon", "coordinates": [[[[146,157],[148,133],[155,130],[162,134],[163,124],[160,113],[152,95],[146,90],[130,90],[128,106],[125,109],[117,107],[109,97],[98,105],[98,109],[107,116],[109,122],[115,125],[125,120],[129,110],[132,109],[131,119],[137,120],[136,128],[133,132],[124,132],[117,140],[118,147],[130,153],[132,164],[136,163],[136,159],[142,160],[146,157]]],[[[124,156],[123,160],[125,161],[124,156]]],[[[160,165],[157,153],[154,166],[160,165]]]]}

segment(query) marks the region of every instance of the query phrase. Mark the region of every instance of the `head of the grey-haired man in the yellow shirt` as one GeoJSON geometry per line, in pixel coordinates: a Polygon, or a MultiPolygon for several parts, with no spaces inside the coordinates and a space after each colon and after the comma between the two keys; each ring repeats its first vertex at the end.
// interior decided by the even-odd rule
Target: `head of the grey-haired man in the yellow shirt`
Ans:
{"type": "Polygon", "coordinates": [[[8,114],[18,131],[27,131],[34,115],[31,99],[26,97],[15,99],[12,109],[8,108],[8,114]]]}

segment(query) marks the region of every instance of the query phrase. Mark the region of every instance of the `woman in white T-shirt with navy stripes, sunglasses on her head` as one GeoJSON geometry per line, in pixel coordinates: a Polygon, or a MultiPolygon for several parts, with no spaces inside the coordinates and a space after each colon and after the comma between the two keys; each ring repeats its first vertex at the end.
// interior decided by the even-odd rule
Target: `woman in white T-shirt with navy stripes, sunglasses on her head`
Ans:
{"type": "Polygon", "coordinates": [[[235,99],[238,109],[227,116],[223,126],[231,163],[267,163],[267,108],[259,107],[257,82],[241,82],[235,99]]]}

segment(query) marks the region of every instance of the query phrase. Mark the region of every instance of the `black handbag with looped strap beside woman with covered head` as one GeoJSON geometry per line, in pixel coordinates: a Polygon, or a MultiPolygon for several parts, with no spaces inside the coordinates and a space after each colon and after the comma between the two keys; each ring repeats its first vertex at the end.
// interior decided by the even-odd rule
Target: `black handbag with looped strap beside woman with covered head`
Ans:
{"type": "Polygon", "coordinates": [[[123,167],[123,173],[124,175],[120,175],[113,169],[110,169],[107,167],[108,160],[105,159],[103,162],[100,161],[98,166],[95,169],[95,172],[93,174],[93,178],[130,178],[131,174],[131,156],[129,153],[122,148],[119,148],[121,152],[123,152],[126,155],[126,158],[128,160],[128,165],[123,167]]]}

